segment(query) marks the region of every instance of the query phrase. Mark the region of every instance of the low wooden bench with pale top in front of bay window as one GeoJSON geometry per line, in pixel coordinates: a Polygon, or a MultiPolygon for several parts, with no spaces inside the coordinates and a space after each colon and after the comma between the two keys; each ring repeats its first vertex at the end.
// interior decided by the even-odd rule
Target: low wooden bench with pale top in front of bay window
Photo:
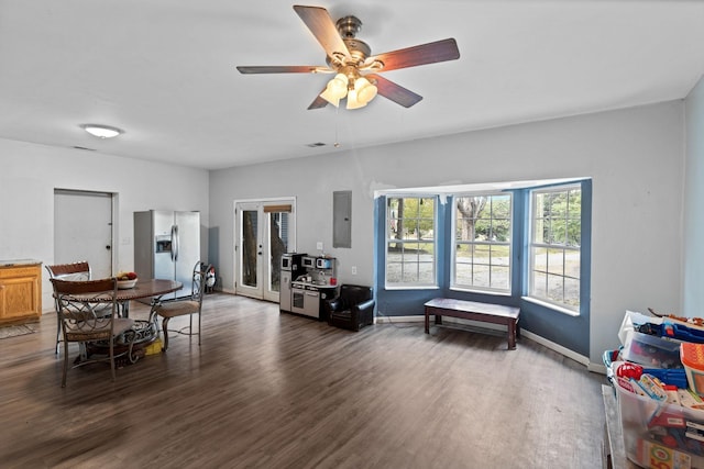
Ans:
{"type": "Polygon", "coordinates": [[[520,337],[520,328],[518,327],[519,308],[436,298],[426,303],[426,334],[430,334],[431,314],[436,316],[436,324],[442,324],[442,316],[503,324],[508,328],[509,350],[516,349],[516,337],[520,337]]]}

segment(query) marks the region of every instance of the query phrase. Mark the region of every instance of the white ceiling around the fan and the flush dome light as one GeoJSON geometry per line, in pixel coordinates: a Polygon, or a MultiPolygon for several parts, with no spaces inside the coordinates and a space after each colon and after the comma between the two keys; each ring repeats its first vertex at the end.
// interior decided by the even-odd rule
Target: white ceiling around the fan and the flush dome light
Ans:
{"type": "Polygon", "coordinates": [[[704,74],[702,1],[304,2],[360,18],[373,54],[461,54],[384,74],[413,108],[308,111],[329,76],[234,68],[324,65],[293,4],[0,0],[0,137],[216,169],[680,99],[704,74]]]}

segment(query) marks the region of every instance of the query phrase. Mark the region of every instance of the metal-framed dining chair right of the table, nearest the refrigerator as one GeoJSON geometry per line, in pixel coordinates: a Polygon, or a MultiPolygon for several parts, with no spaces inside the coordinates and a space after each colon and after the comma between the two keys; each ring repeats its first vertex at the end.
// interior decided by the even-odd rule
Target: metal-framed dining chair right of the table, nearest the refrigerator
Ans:
{"type": "Polygon", "coordinates": [[[190,297],[154,305],[154,312],[162,319],[162,328],[164,331],[164,346],[162,349],[164,351],[168,348],[168,322],[176,316],[189,315],[189,325],[180,330],[172,330],[172,332],[191,336],[197,335],[198,345],[200,345],[202,297],[206,290],[206,277],[211,269],[212,265],[207,265],[200,260],[197,261],[194,267],[190,297]],[[198,314],[198,332],[194,332],[194,314],[198,314]]]}

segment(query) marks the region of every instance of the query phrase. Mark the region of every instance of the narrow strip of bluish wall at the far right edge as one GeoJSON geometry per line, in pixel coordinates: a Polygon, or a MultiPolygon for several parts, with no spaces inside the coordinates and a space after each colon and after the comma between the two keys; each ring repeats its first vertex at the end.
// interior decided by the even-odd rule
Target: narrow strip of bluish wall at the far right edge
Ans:
{"type": "Polygon", "coordinates": [[[686,98],[683,279],[684,316],[704,316],[704,78],[686,98]]]}

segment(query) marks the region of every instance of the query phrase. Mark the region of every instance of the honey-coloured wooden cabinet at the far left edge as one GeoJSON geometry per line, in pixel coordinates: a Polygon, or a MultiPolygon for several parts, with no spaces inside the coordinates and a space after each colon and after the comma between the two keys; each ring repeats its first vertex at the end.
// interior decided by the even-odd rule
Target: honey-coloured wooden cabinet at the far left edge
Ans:
{"type": "Polygon", "coordinates": [[[42,315],[42,264],[0,261],[0,324],[38,321],[42,315]]]}

